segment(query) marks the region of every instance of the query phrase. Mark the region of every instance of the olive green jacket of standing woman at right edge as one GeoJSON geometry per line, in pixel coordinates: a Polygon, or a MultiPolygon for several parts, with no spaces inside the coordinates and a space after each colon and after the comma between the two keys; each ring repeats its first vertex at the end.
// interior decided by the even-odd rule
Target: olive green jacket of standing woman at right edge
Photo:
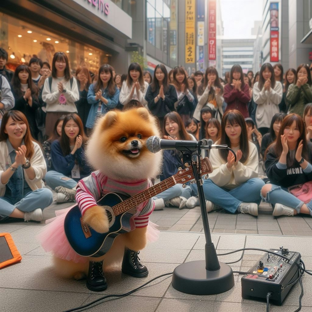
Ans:
{"type": "Polygon", "coordinates": [[[312,86],[306,83],[298,88],[292,83],[286,95],[288,114],[295,113],[302,117],[307,103],[312,103],[312,86]]]}

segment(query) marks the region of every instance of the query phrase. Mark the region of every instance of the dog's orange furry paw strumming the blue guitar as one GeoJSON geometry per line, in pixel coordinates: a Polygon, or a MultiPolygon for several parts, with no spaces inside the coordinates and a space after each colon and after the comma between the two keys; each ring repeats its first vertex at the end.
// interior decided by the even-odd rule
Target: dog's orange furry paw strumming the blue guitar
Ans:
{"type": "Polygon", "coordinates": [[[110,222],[108,221],[106,210],[103,207],[90,207],[83,215],[82,220],[98,233],[106,233],[109,231],[110,222]]]}

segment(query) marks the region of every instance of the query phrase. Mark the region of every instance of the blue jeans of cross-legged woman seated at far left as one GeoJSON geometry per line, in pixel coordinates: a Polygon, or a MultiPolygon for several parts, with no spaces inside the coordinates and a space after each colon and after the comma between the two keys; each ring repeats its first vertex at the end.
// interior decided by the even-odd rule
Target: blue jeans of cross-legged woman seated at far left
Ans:
{"type": "Polygon", "coordinates": [[[48,188],[39,188],[29,192],[19,202],[11,202],[6,197],[0,197],[0,217],[9,216],[15,208],[23,212],[31,212],[35,209],[44,209],[53,202],[53,194],[48,188]]]}

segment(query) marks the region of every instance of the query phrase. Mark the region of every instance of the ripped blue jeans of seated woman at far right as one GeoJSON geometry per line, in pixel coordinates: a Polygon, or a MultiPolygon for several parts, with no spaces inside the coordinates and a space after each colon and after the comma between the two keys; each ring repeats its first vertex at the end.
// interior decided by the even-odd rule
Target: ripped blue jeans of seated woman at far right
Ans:
{"type": "Polygon", "coordinates": [[[261,197],[265,202],[269,202],[273,205],[279,203],[294,208],[298,213],[300,213],[300,208],[304,204],[304,202],[302,202],[300,199],[290,194],[287,188],[282,188],[275,184],[272,184],[271,191],[266,194],[265,198],[262,196],[262,194],[261,197]]]}

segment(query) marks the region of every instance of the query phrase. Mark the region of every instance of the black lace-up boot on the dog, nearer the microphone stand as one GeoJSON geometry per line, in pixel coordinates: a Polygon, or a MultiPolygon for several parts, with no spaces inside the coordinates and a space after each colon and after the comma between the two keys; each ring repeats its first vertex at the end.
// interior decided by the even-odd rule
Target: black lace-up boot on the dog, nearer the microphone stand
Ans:
{"type": "Polygon", "coordinates": [[[145,277],[149,274],[147,267],[140,263],[140,258],[138,257],[139,253],[139,251],[125,248],[124,259],[121,266],[121,271],[124,274],[128,274],[134,277],[145,277]]]}

